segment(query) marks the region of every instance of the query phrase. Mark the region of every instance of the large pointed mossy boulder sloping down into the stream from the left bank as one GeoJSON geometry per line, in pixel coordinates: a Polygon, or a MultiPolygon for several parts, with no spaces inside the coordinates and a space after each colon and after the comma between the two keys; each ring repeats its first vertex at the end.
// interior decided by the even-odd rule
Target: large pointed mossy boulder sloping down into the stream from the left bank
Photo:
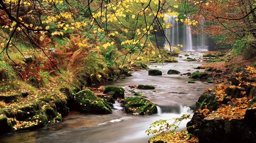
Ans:
{"type": "Polygon", "coordinates": [[[74,101],[82,111],[96,114],[110,114],[110,109],[107,102],[97,98],[97,96],[89,89],[82,90],[75,94],[74,101]]]}

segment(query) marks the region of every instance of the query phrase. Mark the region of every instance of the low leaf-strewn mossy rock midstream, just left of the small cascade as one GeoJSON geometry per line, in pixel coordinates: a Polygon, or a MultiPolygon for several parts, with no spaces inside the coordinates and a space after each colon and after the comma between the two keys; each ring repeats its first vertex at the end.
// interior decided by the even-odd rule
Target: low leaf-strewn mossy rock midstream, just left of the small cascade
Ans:
{"type": "Polygon", "coordinates": [[[157,106],[141,97],[128,97],[123,100],[125,111],[135,115],[151,115],[157,113],[157,106]]]}

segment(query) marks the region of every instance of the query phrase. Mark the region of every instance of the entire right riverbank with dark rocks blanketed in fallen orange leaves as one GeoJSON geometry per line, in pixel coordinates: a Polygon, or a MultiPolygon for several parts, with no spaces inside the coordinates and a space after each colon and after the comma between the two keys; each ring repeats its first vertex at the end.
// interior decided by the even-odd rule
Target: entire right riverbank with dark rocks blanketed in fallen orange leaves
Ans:
{"type": "MultiPolygon", "coordinates": [[[[211,57],[215,52],[208,53],[211,57]]],[[[200,96],[192,117],[184,117],[191,119],[187,130],[158,134],[150,143],[256,142],[255,59],[227,53],[207,61],[212,62],[198,68],[205,69],[216,86],[200,96]]]]}

